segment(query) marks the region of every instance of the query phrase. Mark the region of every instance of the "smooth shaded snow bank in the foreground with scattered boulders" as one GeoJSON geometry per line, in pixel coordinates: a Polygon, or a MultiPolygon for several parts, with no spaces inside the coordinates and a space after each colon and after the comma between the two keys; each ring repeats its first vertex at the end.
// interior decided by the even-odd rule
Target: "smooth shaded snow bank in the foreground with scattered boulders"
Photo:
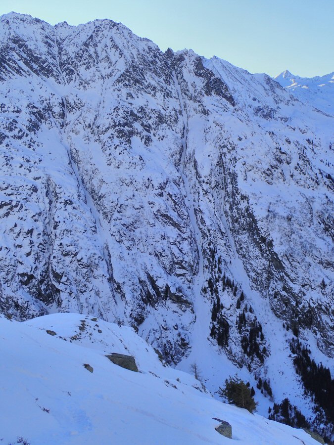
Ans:
{"type": "Polygon", "coordinates": [[[228,421],[240,444],[317,444],[198,391],[129,327],[80,314],[1,317],[0,345],[0,444],[18,436],[31,445],[231,443],[213,418],[228,421]],[[135,356],[140,372],[110,362],[113,352],[135,356]]]}

